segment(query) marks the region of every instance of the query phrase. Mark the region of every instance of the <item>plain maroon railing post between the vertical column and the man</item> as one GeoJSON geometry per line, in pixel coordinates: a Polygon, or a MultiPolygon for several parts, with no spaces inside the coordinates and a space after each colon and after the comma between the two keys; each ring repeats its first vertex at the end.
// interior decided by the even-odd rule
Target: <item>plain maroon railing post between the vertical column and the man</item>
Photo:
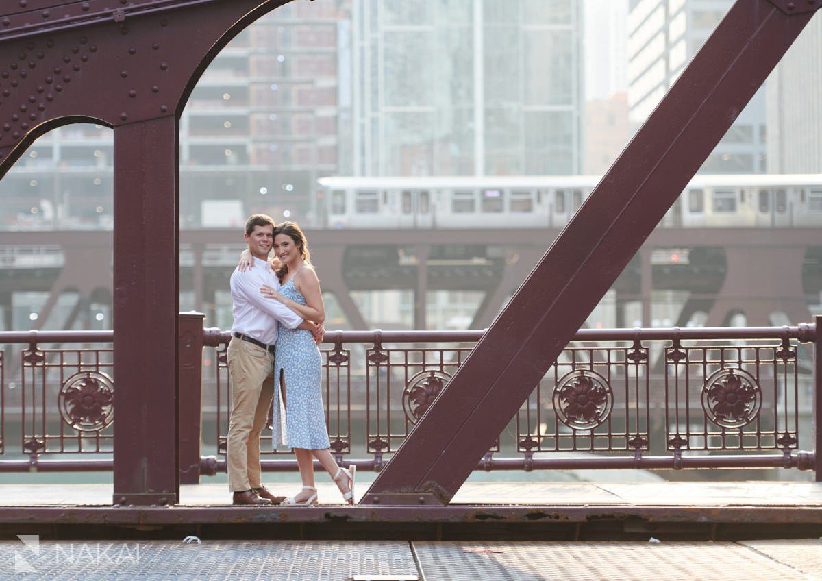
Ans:
{"type": "Polygon", "coordinates": [[[200,483],[204,320],[203,313],[180,313],[180,484],[200,483]]]}

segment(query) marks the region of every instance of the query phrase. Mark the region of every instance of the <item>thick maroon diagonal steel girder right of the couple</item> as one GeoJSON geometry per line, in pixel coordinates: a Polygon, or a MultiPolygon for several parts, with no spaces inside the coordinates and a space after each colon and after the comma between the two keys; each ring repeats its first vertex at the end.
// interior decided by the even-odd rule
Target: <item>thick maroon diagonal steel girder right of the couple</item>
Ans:
{"type": "Polygon", "coordinates": [[[737,0],[360,504],[450,501],[820,6],[737,0]]]}

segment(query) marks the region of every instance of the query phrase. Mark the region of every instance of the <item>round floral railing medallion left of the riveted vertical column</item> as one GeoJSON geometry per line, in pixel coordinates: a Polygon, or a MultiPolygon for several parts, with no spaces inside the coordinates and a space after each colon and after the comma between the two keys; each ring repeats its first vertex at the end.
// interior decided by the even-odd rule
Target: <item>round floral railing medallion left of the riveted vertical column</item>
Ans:
{"type": "Polygon", "coordinates": [[[100,431],[114,420],[114,385],[104,373],[81,371],[62,384],[60,416],[78,431],[100,431]]]}

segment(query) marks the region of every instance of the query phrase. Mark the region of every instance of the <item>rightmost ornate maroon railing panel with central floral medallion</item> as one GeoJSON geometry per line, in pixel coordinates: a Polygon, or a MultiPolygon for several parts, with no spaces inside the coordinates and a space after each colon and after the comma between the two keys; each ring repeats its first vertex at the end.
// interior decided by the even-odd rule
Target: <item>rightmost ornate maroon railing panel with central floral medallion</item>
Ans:
{"type": "Polygon", "coordinates": [[[667,450],[797,450],[797,344],[665,349],[667,450]]]}

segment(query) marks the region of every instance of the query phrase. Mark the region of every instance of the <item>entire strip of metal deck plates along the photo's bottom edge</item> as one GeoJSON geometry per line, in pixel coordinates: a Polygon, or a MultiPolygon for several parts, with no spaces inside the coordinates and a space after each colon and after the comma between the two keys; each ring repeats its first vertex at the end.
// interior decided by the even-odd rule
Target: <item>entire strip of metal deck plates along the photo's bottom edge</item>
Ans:
{"type": "Polygon", "coordinates": [[[0,542],[0,580],[822,579],[820,539],[755,542],[0,542]]]}

